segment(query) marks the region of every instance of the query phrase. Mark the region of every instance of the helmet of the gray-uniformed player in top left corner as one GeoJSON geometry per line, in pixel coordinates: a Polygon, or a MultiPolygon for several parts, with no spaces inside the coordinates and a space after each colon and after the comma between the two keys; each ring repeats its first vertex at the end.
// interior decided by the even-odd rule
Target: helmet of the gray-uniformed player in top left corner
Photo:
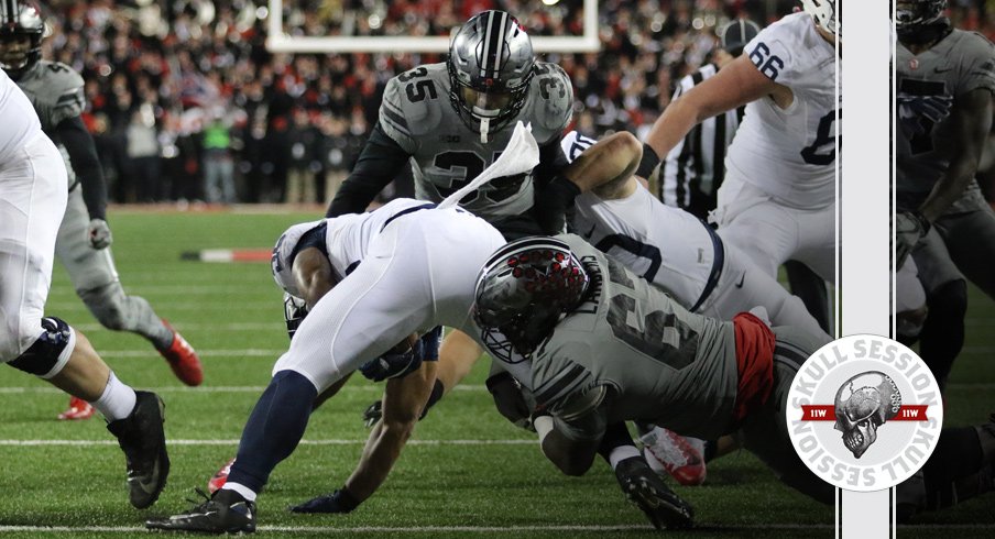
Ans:
{"type": "Polygon", "coordinates": [[[42,58],[45,20],[28,0],[0,0],[0,67],[17,80],[42,58]],[[23,46],[26,37],[28,45],[23,46]]]}

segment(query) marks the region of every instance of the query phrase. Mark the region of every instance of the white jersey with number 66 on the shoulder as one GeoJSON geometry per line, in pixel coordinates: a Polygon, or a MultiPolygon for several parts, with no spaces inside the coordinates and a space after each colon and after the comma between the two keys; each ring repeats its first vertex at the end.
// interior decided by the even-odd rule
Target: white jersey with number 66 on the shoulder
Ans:
{"type": "Polygon", "coordinates": [[[790,88],[794,101],[781,109],[764,97],[746,106],[725,160],[726,178],[753,184],[796,208],[833,204],[842,101],[833,45],[816,32],[811,15],[799,12],[761,31],[743,54],[770,80],[790,88]]]}

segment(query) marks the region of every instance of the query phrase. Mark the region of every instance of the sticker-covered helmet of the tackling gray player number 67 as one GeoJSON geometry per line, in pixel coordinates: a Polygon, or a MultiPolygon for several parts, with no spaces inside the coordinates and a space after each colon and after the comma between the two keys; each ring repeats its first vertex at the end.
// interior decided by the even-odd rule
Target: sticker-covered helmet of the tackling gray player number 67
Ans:
{"type": "MultiPolygon", "coordinates": [[[[495,252],[477,280],[473,318],[483,341],[498,355],[526,356],[576,308],[590,276],[570,246],[554,238],[531,237],[495,252]]],[[[504,358],[499,358],[509,361],[504,358]]]]}

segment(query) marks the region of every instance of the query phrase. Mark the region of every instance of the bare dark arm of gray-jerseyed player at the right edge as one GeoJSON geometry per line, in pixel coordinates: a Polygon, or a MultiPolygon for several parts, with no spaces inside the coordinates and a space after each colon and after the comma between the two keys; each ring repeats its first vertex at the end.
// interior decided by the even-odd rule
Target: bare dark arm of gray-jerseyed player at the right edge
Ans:
{"type": "Polygon", "coordinates": [[[919,208],[927,221],[933,222],[942,216],[974,178],[982,147],[992,129],[992,91],[987,88],[971,90],[954,101],[950,112],[953,136],[937,141],[950,144],[953,153],[945,174],[919,208]]]}

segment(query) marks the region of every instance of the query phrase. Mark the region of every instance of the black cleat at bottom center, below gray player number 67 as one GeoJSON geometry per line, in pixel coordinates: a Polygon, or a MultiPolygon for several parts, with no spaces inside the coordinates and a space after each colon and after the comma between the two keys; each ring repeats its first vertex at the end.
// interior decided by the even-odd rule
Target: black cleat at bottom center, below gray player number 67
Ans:
{"type": "Polygon", "coordinates": [[[646,514],[656,529],[691,526],[695,509],[675,494],[642,457],[619,462],[615,477],[625,497],[646,514]]]}

